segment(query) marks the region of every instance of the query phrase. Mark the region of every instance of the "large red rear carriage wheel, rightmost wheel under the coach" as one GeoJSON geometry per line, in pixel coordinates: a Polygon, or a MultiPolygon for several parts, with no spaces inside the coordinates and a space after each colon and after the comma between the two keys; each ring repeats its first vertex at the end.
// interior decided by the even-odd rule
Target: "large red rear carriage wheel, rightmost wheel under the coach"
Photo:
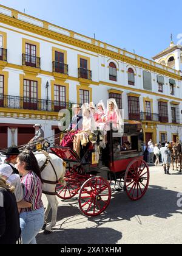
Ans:
{"type": "Polygon", "coordinates": [[[124,177],[124,190],[132,201],[144,196],[149,187],[149,166],[141,159],[133,160],[127,167],[124,177]]]}

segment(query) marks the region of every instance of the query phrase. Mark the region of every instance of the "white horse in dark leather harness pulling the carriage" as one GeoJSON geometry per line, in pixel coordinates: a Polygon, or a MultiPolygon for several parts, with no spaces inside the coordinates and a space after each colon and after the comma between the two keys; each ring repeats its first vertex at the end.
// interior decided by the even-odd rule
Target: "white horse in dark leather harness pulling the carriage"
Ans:
{"type": "MultiPolygon", "coordinates": [[[[44,180],[42,190],[48,200],[48,206],[45,210],[44,233],[47,235],[52,232],[52,228],[56,226],[56,218],[58,213],[58,200],[56,198],[55,188],[59,180],[64,180],[66,171],[66,163],[54,154],[47,152],[35,152],[39,167],[42,169],[41,177],[44,180]],[[47,225],[47,218],[52,208],[52,221],[47,225]]],[[[5,155],[0,155],[0,165],[4,163],[5,155]]]]}

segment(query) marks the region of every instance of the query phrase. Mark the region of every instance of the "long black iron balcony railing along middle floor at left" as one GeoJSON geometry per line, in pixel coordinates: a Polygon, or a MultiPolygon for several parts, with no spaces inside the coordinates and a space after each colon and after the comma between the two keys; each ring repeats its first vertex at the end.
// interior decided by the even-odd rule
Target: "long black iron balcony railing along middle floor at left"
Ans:
{"type": "Polygon", "coordinates": [[[0,94],[0,107],[24,110],[37,110],[45,112],[59,112],[63,108],[72,108],[71,103],[50,101],[18,96],[0,94]]]}

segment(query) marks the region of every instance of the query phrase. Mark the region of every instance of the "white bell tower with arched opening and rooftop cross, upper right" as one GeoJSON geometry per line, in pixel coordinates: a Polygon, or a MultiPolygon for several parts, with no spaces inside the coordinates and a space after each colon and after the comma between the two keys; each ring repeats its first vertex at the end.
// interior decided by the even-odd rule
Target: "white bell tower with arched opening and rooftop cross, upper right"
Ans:
{"type": "Polygon", "coordinates": [[[176,70],[182,70],[182,46],[174,44],[173,36],[170,36],[170,46],[152,59],[161,65],[168,66],[176,70]]]}

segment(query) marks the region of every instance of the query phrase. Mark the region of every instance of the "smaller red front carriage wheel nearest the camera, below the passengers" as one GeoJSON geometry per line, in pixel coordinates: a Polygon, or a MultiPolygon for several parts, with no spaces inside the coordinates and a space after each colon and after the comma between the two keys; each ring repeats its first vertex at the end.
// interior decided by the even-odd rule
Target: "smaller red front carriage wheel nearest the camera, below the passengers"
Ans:
{"type": "Polygon", "coordinates": [[[86,216],[98,216],[103,213],[111,199],[111,188],[103,177],[92,177],[79,191],[79,209],[86,216]]]}

